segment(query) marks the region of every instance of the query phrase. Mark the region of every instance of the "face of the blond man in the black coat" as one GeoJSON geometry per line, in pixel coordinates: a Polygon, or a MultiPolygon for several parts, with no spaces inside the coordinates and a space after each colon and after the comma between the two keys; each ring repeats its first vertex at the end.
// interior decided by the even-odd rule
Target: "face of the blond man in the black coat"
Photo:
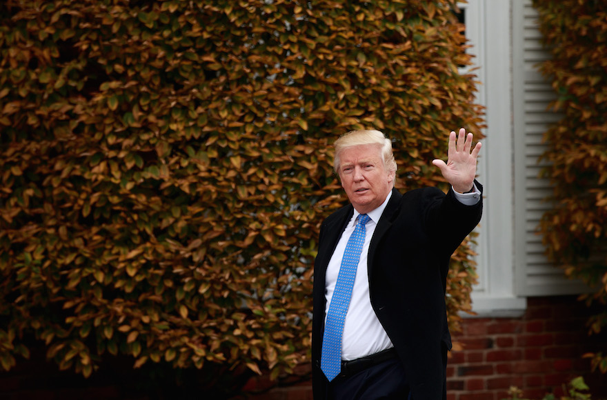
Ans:
{"type": "Polygon", "coordinates": [[[339,179],[352,206],[366,214],[384,203],[392,190],[395,172],[388,172],[380,148],[366,144],[345,148],[339,154],[339,179]]]}

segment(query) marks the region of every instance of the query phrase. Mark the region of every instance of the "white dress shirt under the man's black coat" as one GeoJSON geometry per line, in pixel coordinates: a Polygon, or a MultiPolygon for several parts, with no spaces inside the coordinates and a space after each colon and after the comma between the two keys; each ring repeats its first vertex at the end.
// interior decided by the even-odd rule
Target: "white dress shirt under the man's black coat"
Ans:
{"type": "MultiPolygon", "coordinates": [[[[481,192],[476,185],[474,186],[474,192],[459,193],[454,190],[454,193],[457,200],[466,206],[472,206],[478,203],[481,196],[481,192]]],[[[375,311],[373,311],[371,306],[367,268],[369,243],[371,242],[373,232],[375,232],[377,223],[379,222],[381,214],[384,212],[390,197],[392,197],[392,191],[388,193],[388,197],[386,197],[384,203],[381,203],[381,206],[367,214],[370,217],[370,221],[368,221],[365,226],[365,242],[357,266],[354,287],[352,288],[352,297],[350,299],[350,308],[348,308],[348,313],[346,314],[346,319],[344,321],[344,332],[342,333],[341,339],[342,360],[354,360],[394,347],[386,330],[381,326],[381,323],[379,322],[379,319],[377,319],[375,311]]],[[[354,210],[352,219],[350,219],[346,229],[341,234],[341,237],[337,242],[337,247],[331,256],[327,267],[325,278],[325,297],[327,301],[325,321],[326,314],[329,311],[331,297],[335,290],[335,284],[337,283],[341,259],[344,256],[348,239],[352,232],[354,232],[358,216],[359,212],[354,210]]]]}

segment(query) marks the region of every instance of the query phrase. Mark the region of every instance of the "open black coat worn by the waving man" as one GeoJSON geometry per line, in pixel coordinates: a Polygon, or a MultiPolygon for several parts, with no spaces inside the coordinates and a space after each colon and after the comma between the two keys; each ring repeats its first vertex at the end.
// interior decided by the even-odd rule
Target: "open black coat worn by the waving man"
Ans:
{"type": "MultiPolygon", "coordinates": [[[[482,186],[475,182],[482,192],[482,186]]],[[[481,197],[482,198],[482,197],[481,197]]],[[[405,366],[413,400],[446,397],[446,355],[451,348],[445,288],[451,254],[481,219],[482,199],[464,206],[450,190],[392,190],[370,242],[371,305],[405,366]]],[[[327,379],[320,369],[326,299],[325,274],[337,241],[352,218],[352,205],[321,225],[314,264],[312,387],[325,399],[327,379]]]]}

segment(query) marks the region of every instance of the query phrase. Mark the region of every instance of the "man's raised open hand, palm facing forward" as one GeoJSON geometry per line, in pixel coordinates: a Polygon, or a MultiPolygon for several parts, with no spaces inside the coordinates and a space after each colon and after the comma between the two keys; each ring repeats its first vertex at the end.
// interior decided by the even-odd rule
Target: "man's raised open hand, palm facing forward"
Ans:
{"type": "Polygon", "coordinates": [[[440,168],[443,177],[448,181],[457,192],[465,193],[472,189],[472,185],[477,173],[477,157],[481,150],[481,143],[470,152],[472,147],[472,133],[466,135],[466,130],[459,130],[459,137],[455,131],[449,134],[449,150],[447,153],[447,162],[441,159],[432,160],[432,164],[440,168]]]}

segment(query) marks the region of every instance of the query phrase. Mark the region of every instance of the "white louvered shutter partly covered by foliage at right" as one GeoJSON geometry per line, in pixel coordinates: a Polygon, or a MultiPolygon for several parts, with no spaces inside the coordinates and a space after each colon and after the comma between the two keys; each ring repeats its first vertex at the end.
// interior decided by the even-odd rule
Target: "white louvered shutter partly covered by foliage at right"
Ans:
{"type": "Polygon", "coordinates": [[[550,208],[548,179],[540,179],[545,163],[544,132],[561,115],[548,111],[556,94],[537,63],[550,57],[541,45],[537,11],[530,0],[513,1],[513,117],[515,151],[515,290],[519,295],[574,294],[587,290],[564,277],[544,255],[538,234],[541,215],[550,208]]]}

